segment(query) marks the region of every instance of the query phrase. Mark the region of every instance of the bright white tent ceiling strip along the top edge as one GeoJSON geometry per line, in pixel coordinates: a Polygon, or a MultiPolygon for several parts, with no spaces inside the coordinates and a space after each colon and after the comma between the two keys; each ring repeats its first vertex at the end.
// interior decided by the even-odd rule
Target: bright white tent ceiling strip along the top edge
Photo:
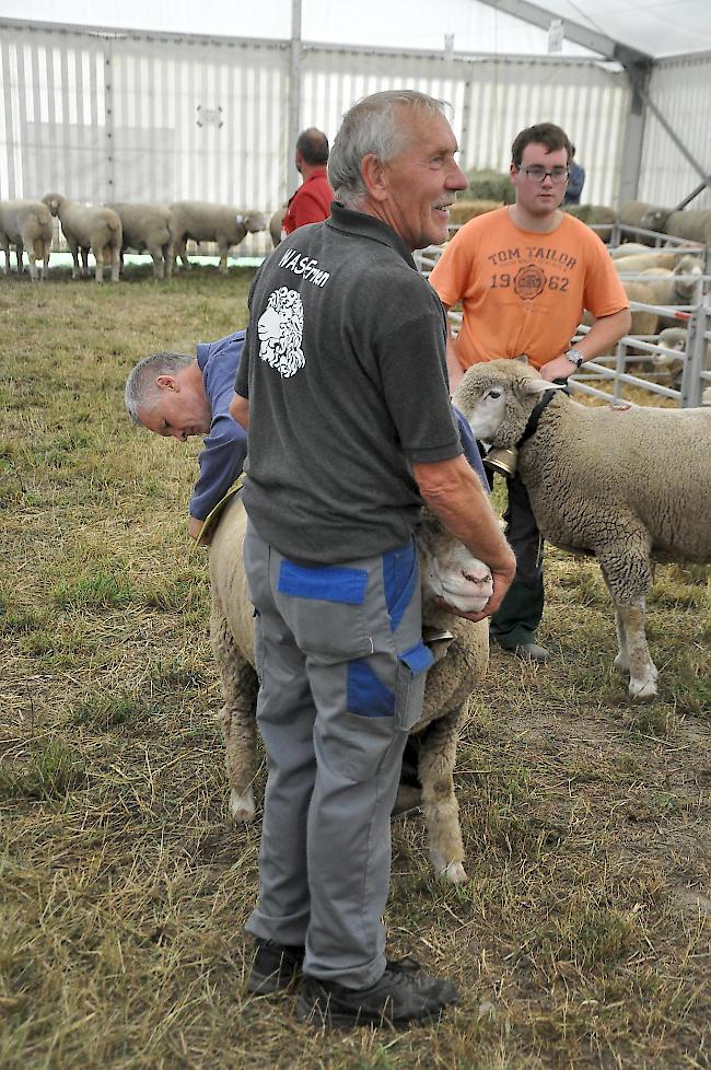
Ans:
{"type": "MultiPolygon", "coordinates": [[[[711,50],[711,0],[539,0],[551,18],[570,20],[660,58],[711,50]]],[[[290,36],[291,0],[0,0],[0,16],[74,25],[120,26],[225,36],[290,36]]],[[[302,0],[304,40],[442,49],[546,54],[545,28],[479,0],[302,0]]],[[[563,55],[590,55],[569,40],[563,55]]]]}

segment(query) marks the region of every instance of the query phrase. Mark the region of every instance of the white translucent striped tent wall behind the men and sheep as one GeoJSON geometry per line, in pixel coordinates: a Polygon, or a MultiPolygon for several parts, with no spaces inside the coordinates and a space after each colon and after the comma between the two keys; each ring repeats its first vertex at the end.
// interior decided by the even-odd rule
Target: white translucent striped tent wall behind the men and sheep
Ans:
{"type": "MultiPolygon", "coordinates": [[[[652,96],[708,162],[709,67],[702,102],[698,63],[662,61],[652,96]]],[[[269,212],[291,191],[289,42],[0,20],[0,198],[56,189],[93,203],[201,199],[269,212]]],[[[304,44],[301,124],[333,139],[354,100],[403,85],[453,104],[466,167],[505,171],[520,129],[559,123],[586,170],[583,199],[616,203],[629,89],[615,65],[304,44]]],[[[657,126],[650,116],[641,193],[675,203],[698,179],[657,126]]],[[[256,234],[241,253],[268,248],[256,234]]]]}

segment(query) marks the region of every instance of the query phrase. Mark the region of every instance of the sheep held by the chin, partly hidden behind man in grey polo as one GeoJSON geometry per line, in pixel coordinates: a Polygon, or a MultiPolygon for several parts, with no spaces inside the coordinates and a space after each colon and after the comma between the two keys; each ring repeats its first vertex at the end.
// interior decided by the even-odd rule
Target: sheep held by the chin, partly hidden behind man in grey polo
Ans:
{"type": "MultiPolygon", "coordinates": [[[[220,724],[226,744],[230,811],[237,821],[254,815],[253,781],[257,772],[258,682],[253,606],[242,563],[245,525],[246,513],[235,498],[224,510],[210,545],[210,639],[222,678],[220,724]]],[[[430,637],[435,663],[428,673],[423,712],[411,730],[411,740],[419,752],[430,858],[444,880],[458,884],[467,876],[454,795],[456,742],[469,696],[486,672],[489,632],[486,620],[475,624],[457,617],[442,608],[436,598],[443,597],[465,612],[479,612],[492,593],[491,573],[430,515],[420,527],[418,549],[423,631],[426,640],[430,637]]],[[[396,810],[401,807],[404,794],[411,795],[411,789],[400,789],[396,810]]]]}

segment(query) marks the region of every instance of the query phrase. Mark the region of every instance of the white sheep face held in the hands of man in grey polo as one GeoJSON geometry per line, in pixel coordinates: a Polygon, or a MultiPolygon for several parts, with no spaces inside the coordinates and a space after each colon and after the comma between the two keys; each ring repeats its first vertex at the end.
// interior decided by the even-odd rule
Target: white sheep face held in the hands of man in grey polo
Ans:
{"type": "Polygon", "coordinates": [[[426,514],[417,536],[426,606],[435,598],[463,613],[480,613],[493,594],[491,571],[426,514]]]}

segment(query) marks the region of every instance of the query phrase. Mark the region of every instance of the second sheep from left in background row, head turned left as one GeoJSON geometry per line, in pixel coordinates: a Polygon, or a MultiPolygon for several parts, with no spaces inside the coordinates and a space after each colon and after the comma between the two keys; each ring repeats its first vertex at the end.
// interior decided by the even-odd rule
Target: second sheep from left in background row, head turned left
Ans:
{"type": "Polygon", "coordinates": [[[118,282],[121,255],[121,221],[110,208],[92,208],[75,205],[61,194],[47,194],[42,198],[53,216],[59,217],[67,244],[74,261],[71,277],[80,279],[79,265],[81,251],[84,274],[89,274],[89,252],[96,260],[96,281],[104,281],[104,264],[112,266],[112,280],[118,282]]]}

